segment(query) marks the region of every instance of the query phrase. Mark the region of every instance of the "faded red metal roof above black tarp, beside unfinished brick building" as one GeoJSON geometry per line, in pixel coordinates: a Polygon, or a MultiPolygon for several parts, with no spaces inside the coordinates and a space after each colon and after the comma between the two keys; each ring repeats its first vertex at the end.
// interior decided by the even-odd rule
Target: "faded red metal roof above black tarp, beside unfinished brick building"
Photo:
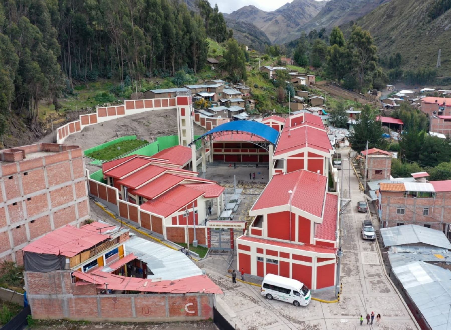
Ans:
{"type": "Polygon", "coordinates": [[[28,244],[22,250],[57,256],[63,255],[70,258],[108,238],[110,238],[109,235],[94,233],[91,227],[86,229],[66,225],[28,244]]]}

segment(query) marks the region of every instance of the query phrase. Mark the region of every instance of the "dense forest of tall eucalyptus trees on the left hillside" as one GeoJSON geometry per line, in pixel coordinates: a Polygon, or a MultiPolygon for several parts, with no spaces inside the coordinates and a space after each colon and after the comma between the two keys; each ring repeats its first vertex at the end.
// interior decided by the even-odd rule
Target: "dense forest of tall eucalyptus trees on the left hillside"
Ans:
{"type": "Polygon", "coordinates": [[[207,57],[206,28],[216,37],[227,32],[222,23],[212,29],[170,0],[0,2],[0,135],[11,113],[36,129],[38,102],[53,100],[57,110],[74,79],[195,73],[207,57]]]}

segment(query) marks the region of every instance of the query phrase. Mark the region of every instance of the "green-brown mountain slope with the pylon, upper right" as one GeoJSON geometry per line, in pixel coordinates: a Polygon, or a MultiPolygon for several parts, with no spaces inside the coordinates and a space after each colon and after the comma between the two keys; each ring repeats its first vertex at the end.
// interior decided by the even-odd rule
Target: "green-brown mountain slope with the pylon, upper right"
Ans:
{"type": "MultiPolygon", "coordinates": [[[[438,49],[442,49],[442,66],[438,69],[438,76],[450,77],[451,9],[431,19],[430,13],[436,2],[391,0],[355,23],[369,30],[380,57],[400,52],[404,69],[435,67],[438,49]]],[[[350,34],[349,25],[342,29],[345,36],[350,34]]]]}

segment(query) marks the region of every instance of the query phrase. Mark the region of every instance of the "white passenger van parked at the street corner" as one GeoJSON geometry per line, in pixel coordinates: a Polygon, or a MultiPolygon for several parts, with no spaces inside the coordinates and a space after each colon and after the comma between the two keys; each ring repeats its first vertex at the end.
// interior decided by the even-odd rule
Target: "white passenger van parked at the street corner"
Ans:
{"type": "Polygon", "coordinates": [[[277,299],[295,306],[307,306],[312,298],[304,283],[274,274],[265,276],[260,293],[267,299],[277,299]]]}

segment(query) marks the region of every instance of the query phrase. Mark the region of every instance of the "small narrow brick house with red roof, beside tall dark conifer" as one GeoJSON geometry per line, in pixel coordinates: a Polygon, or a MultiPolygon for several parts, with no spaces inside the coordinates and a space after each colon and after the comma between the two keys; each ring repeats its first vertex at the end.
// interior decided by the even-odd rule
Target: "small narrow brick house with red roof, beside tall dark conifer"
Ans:
{"type": "Polygon", "coordinates": [[[368,161],[366,169],[366,178],[368,181],[390,179],[391,172],[391,153],[385,150],[371,148],[361,152],[364,160],[361,161],[363,166],[362,173],[365,173],[365,164],[368,161]],[[368,158],[368,160],[366,160],[368,158]]]}

